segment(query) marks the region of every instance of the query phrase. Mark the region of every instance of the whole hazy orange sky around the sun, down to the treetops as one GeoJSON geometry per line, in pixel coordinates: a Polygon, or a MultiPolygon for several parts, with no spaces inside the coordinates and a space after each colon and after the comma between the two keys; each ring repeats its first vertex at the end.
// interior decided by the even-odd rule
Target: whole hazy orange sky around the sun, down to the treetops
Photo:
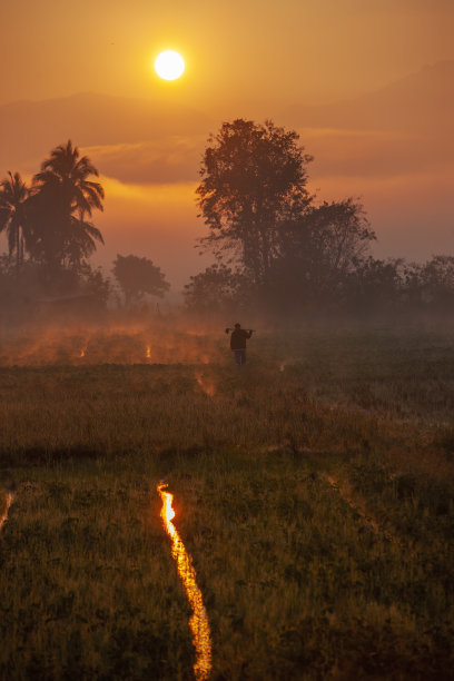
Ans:
{"type": "Polygon", "coordinates": [[[0,174],[36,171],[71,137],[106,185],[106,211],[96,220],[106,237],[101,261],[117,251],[147,255],[176,289],[200,269],[193,248],[205,233],[193,196],[199,159],[208,134],[243,116],[300,131],[316,157],[313,187],[324,198],[363,197],[379,255],[454,251],[452,118],[437,129],[436,117],[440,92],[440,108],[454,105],[454,71],[405,80],[427,65],[453,63],[452,0],[24,0],[1,3],[0,26],[0,174]],[[165,48],[186,58],[178,82],[151,71],[165,48]],[[402,87],[387,88],[399,79],[402,87]],[[364,95],[376,91],[378,107],[367,108],[364,95]],[[57,100],[81,92],[118,98],[107,100],[105,126],[83,124],[86,100],[75,101],[73,116],[60,112],[57,100]],[[425,103],[431,93],[432,109],[420,106],[418,92],[425,103]],[[157,118],[148,128],[125,114],[136,107],[130,97],[151,102],[157,118]],[[355,97],[345,119],[342,109],[326,109],[355,97]],[[8,107],[50,99],[46,115],[34,105],[8,107]]]}

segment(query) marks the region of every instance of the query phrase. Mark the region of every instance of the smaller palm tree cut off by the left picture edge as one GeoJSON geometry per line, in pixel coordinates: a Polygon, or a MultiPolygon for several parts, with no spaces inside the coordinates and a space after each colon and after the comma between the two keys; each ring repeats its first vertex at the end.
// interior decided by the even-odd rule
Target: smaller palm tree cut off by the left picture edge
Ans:
{"type": "Polygon", "coordinates": [[[0,182],[0,233],[6,231],[9,257],[16,254],[16,268],[19,273],[23,263],[26,240],[29,235],[27,200],[29,189],[19,172],[0,182]]]}

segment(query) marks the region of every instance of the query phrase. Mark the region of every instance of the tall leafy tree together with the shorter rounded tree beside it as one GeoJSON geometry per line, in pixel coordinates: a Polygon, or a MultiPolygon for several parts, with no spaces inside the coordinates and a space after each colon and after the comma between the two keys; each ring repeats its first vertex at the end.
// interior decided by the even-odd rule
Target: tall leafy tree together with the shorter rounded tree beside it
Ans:
{"type": "Polygon", "coordinates": [[[210,280],[210,298],[217,290],[224,300],[229,290],[228,298],[239,303],[247,292],[261,307],[294,312],[309,300],[337,300],[346,290],[375,233],[361,201],[316,201],[307,188],[312,160],[296,131],[270,120],[224,122],[208,139],[196,190],[209,228],[200,241],[218,264],[233,267],[193,277],[188,306],[210,280]]]}

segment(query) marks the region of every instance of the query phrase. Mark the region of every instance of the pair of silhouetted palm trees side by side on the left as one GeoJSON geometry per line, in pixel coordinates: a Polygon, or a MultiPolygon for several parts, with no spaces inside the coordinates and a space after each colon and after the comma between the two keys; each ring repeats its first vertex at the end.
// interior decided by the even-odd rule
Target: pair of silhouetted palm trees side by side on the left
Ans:
{"type": "Polygon", "coordinates": [[[88,179],[98,170],[69,140],[56,147],[27,187],[19,172],[0,184],[0,230],[8,237],[9,257],[19,272],[28,253],[50,272],[77,269],[103,244],[89,219],[102,210],[103,189],[88,179]]]}

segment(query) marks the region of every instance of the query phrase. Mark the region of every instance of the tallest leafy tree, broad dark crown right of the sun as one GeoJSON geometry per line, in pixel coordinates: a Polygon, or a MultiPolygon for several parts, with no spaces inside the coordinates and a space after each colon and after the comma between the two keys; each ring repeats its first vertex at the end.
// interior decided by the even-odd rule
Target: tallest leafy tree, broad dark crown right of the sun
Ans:
{"type": "Polygon", "coordinates": [[[255,283],[267,280],[283,221],[300,217],[310,197],[298,135],[268,120],[223,124],[208,140],[197,188],[210,229],[201,239],[219,259],[240,260],[255,283]]]}

